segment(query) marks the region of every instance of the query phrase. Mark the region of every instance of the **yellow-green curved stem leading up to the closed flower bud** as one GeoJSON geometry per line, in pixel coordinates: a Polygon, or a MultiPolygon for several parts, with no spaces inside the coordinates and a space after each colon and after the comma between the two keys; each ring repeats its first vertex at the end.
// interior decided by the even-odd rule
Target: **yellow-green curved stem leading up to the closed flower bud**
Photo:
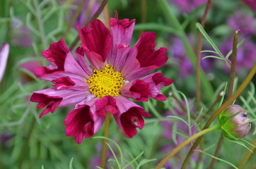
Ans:
{"type": "Polygon", "coordinates": [[[197,132],[197,134],[192,135],[190,138],[186,139],[184,142],[176,146],[175,149],[173,149],[173,151],[170,151],[170,153],[167,156],[165,156],[165,158],[163,158],[163,160],[160,163],[158,163],[158,165],[156,165],[155,169],[161,169],[163,165],[165,165],[165,163],[167,163],[170,160],[170,158],[172,158],[175,154],[177,154],[180,151],[180,149],[182,149],[184,146],[192,142],[194,139],[197,139],[198,137],[208,132],[218,130],[220,128],[220,125],[214,125],[213,127],[209,127],[207,129],[202,130],[201,132],[197,132]]]}

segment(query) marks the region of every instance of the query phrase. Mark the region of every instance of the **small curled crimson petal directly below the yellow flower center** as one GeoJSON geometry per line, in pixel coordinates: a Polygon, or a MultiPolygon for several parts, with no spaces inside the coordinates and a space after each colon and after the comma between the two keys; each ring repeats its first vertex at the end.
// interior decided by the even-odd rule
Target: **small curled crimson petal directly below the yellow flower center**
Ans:
{"type": "Polygon", "coordinates": [[[105,118],[107,112],[112,115],[118,112],[117,104],[112,96],[104,96],[103,99],[95,101],[96,115],[105,118]]]}

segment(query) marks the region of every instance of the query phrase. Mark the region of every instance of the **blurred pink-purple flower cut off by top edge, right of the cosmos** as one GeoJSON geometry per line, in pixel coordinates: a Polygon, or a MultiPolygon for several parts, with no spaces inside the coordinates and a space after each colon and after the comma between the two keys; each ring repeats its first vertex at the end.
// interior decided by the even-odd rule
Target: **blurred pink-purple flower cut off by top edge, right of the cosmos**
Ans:
{"type": "Polygon", "coordinates": [[[195,8],[206,3],[207,0],[168,0],[177,5],[182,11],[190,13],[194,11],[195,8]]]}

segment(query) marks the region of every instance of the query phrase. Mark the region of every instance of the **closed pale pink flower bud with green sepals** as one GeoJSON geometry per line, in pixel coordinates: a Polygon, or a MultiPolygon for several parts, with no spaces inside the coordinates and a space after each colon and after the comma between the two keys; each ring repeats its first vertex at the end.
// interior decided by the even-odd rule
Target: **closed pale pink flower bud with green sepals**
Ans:
{"type": "Polygon", "coordinates": [[[219,121],[222,130],[224,130],[223,134],[230,139],[233,139],[231,135],[243,138],[250,131],[250,118],[248,118],[247,111],[238,105],[228,106],[219,115],[219,121]]]}

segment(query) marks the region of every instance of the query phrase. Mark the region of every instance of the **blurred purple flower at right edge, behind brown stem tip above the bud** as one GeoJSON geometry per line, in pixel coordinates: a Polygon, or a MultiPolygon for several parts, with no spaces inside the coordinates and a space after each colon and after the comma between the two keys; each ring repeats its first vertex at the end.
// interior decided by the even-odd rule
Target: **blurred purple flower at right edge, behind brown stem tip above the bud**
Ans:
{"type": "MultiPolygon", "coordinates": [[[[221,53],[226,56],[229,51],[231,51],[233,46],[233,39],[227,39],[221,45],[221,53]]],[[[243,73],[243,70],[247,71],[252,68],[256,61],[256,44],[254,44],[249,38],[245,39],[245,42],[238,47],[237,51],[237,60],[236,60],[236,69],[238,73],[243,73]]],[[[231,56],[229,57],[231,60],[231,56]]],[[[227,73],[230,68],[225,66],[223,68],[227,73]]]]}

